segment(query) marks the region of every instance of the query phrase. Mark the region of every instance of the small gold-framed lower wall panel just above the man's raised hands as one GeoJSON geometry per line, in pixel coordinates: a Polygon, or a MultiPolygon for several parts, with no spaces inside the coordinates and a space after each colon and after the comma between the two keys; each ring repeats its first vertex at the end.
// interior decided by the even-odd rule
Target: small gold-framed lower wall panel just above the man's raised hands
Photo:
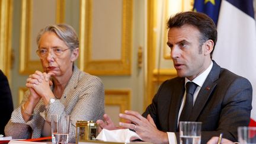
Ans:
{"type": "Polygon", "coordinates": [[[105,105],[119,106],[120,113],[123,113],[124,110],[130,110],[130,90],[105,90],[105,105]]]}

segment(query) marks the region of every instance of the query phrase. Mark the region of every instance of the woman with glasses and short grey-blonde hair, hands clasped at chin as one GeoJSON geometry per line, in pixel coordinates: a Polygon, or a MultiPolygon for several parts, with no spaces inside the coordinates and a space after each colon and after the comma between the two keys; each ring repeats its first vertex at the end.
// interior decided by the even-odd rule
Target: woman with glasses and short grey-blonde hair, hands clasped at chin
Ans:
{"type": "Polygon", "coordinates": [[[51,136],[51,116],[69,115],[69,142],[74,143],[77,120],[103,118],[103,82],[74,65],[79,40],[71,26],[48,25],[37,36],[37,44],[43,72],[28,77],[28,91],[12,112],[5,134],[13,139],[51,136]]]}

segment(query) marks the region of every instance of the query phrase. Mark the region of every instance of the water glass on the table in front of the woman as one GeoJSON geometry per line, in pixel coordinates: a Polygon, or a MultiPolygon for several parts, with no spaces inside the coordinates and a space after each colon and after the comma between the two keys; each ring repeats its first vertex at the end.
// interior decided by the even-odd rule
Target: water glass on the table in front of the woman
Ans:
{"type": "Polygon", "coordinates": [[[69,135],[69,116],[53,115],[52,116],[52,143],[68,144],[69,135]]]}

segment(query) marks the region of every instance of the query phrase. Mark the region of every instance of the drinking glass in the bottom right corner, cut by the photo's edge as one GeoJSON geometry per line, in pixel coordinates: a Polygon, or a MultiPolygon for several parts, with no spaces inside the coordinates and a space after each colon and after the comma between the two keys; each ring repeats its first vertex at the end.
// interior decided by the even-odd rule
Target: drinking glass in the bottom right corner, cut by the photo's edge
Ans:
{"type": "Polygon", "coordinates": [[[255,144],[256,127],[238,127],[238,142],[240,144],[255,144]]]}

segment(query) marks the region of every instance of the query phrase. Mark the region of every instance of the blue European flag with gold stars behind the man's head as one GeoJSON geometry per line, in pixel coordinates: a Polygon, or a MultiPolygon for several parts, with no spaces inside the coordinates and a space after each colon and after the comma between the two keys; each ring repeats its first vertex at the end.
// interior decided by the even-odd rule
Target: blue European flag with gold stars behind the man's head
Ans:
{"type": "Polygon", "coordinates": [[[193,11],[207,14],[217,25],[221,0],[195,0],[193,11]]]}

